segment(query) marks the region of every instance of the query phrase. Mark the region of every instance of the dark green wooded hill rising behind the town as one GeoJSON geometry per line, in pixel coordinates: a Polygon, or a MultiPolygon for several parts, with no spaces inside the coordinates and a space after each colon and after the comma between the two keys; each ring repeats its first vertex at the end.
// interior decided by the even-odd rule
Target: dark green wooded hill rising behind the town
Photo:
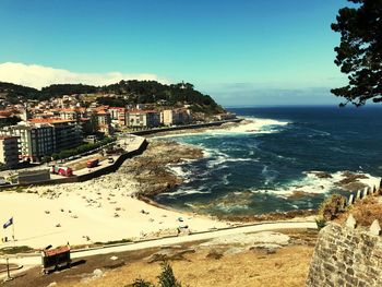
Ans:
{"type": "Polygon", "coordinates": [[[225,111],[211,96],[194,89],[190,83],[165,85],[156,81],[132,80],[105,86],[55,84],[38,91],[33,87],[0,82],[0,95],[12,104],[27,99],[47,100],[51,97],[73,94],[93,94],[96,95],[98,104],[119,107],[155,103],[172,107],[189,104],[193,112],[215,115],[225,111]]]}

